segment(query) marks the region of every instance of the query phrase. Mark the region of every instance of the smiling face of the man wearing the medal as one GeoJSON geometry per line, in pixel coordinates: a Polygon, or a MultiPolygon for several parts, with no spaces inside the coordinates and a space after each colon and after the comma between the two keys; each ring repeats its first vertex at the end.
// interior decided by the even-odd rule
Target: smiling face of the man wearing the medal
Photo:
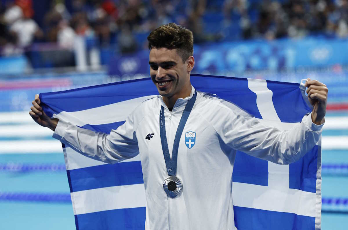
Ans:
{"type": "Polygon", "coordinates": [[[152,48],[150,50],[150,76],[160,95],[172,97],[180,93],[185,85],[190,84],[191,69],[187,62],[188,60],[182,61],[176,49],[152,48]]]}

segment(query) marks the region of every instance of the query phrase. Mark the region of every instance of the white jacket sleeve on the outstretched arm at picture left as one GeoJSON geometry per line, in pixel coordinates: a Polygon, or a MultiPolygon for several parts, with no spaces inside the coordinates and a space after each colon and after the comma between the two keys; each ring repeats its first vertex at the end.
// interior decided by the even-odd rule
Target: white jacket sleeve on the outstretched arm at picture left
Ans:
{"type": "Polygon", "coordinates": [[[53,138],[73,148],[75,151],[106,163],[116,163],[139,154],[135,131],[137,129],[134,112],[124,124],[109,134],[80,128],[64,120],[59,120],[53,138]]]}

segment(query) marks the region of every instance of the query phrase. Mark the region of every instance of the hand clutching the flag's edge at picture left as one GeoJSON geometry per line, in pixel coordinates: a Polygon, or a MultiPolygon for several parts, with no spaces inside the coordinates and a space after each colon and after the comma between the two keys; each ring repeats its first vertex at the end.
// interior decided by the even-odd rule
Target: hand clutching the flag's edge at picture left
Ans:
{"type": "Polygon", "coordinates": [[[31,111],[29,111],[30,116],[33,120],[41,126],[48,127],[53,131],[56,129],[59,119],[58,118],[50,118],[47,116],[42,110],[40,106],[39,94],[35,94],[35,100],[33,100],[33,106],[31,107],[31,111]]]}

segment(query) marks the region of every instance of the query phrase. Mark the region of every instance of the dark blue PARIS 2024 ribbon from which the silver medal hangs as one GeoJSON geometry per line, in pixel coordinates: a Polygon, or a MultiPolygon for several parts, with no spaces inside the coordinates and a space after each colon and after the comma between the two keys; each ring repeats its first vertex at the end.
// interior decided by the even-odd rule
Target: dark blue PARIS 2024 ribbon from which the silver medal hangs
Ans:
{"type": "Polygon", "coordinates": [[[184,112],[181,116],[179,125],[177,126],[174,144],[173,144],[172,159],[171,159],[171,156],[169,155],[169,149],[168,149],[168,143],[167,143],[166,124],[164,120],[164,107],[161,106],[161,111],[159,113],[159,133],[161,136],[163,156],[166,162],[168,176],[176,175],[177,151],[179,149],[180,137],[181,137],[182,131],[184,130],[187,119],[189,118],[193,105],[195,104],[196,97],[197,97],[197,92],[195,90],[195,93],[193,94],[192,98],[188,100],[185,106],[184,112]]]}

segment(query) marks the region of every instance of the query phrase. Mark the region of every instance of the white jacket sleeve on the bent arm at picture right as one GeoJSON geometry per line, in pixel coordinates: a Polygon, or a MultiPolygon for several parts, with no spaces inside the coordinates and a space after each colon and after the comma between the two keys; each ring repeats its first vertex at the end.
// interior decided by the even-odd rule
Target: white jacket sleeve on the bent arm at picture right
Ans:
{"type": "Polygon", "coordinates": [[[229,103],[219,106],[220,119],[212,124],[222,141],[233,149],[277,164],[302,158],[319,141],[322,126],[312,122],[311,113],[289,130],[265,126],[244,110],[229,103]]]}

